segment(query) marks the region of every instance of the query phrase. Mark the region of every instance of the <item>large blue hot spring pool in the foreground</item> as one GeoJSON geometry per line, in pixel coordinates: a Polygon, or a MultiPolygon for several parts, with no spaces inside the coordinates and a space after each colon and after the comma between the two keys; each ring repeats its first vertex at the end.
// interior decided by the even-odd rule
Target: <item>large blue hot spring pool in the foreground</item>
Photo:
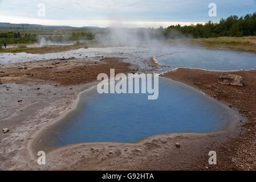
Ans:
{"type": "MultiPolygon", "coordinates": [[[[176,81],[159,80],[159,99],[147,94],[80,95],[77,109],[47,129],[50,147],[83,142],[136,142],[155,134],[224,130],[235,112],[176,81]]],[[[43,142],[43,140],[42,140],[43,142]]]]}

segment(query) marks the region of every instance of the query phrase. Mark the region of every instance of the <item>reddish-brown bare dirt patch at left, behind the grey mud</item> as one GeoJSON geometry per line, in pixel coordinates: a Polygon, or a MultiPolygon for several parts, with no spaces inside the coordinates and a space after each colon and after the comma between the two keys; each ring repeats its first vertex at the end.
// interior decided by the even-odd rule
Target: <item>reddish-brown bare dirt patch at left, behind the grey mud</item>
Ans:
{"type": "Polygon", "coordinates": [[[127,73],[129,64],[119,60],[121,59],[104,57],[95,62],[69,59],[13,63],[0,67],[0,82],[45,80],[61,85],[86,84],[96,81],[99,73],[109,75],[109,69],[115,69],[116,73],[127,73]]]}

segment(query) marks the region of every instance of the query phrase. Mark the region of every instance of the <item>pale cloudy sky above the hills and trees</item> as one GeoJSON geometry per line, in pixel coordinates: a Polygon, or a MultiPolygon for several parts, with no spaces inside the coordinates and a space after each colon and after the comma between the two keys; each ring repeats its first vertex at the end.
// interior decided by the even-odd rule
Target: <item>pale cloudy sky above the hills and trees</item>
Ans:
{"type": "Polygon", "coordinates": [[[255,11],[256,0],[0,0],[0,22],[75,27],[166,27],[255,11]],[[38,16],[39,3],[46,16],[38,16]],[[208,15],[209,3],[216,3],[217,17],[208,15]]]}

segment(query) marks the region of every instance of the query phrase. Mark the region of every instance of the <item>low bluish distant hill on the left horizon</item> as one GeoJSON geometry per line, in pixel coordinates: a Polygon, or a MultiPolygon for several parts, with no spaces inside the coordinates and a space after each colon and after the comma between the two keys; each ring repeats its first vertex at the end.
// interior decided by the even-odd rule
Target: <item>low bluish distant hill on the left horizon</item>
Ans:
{"type": "Polygon", "coordinates": [[[71,26],[45,26],[41,24],[14,24],[1,23],[0,28],[15,28],[15,29],[38,29],[38,30],[100,30],[99,27],[71,27],[71,26]]]}

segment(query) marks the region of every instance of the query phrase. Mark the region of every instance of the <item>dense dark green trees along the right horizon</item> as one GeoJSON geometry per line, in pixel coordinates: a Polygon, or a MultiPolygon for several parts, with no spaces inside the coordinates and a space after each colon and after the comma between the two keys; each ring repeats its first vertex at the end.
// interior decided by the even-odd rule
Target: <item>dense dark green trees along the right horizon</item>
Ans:
{"type": "Polygon", "coordinates": [[[167,38],[180,38],[181,35],[192,38],[215,38],[219,36],[254,36],[256,35],[256,13],[240,18],[236,15],[221,19],[219,23],[208,22],[190,26],[169,26],[164,29],[167,38]]]}

